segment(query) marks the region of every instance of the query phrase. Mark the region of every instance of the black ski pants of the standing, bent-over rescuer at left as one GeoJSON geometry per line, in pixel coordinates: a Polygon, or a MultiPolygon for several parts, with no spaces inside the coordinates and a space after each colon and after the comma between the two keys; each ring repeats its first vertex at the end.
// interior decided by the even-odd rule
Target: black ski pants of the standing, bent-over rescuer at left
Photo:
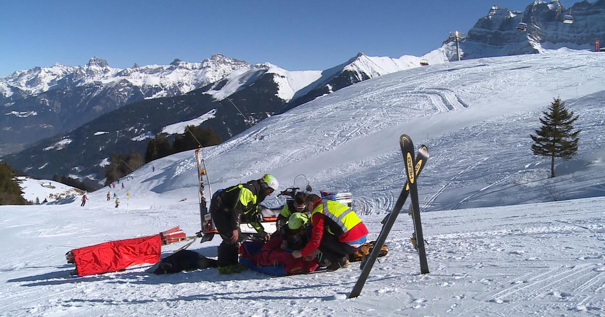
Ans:
{"type": "MultiPolygon", "coordinates": [[[[220,196],[212,197],[210,203],[210,214],[214,226],[217,227],[218,234],[223,241],[218,246],[218,266],[224,267],[239,263],[238,242],[231,241],[233,237],[233,229],[231,228],[231,213],[224,210],[223,204],[220,201],[220,196]]],[[[240,232],[240,240],[242,234],[240,232]]]]}

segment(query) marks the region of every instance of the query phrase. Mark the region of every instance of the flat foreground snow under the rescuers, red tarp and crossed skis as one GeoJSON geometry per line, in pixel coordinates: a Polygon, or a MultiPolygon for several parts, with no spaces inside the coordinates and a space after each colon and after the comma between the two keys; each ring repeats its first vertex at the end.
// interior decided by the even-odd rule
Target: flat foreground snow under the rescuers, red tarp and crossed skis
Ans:
{"type": "MultiPolygon", "coordinates": [[[[160,184],[185,154],[155,161],[155,173],[146,165],[126,186],[160,184]]],[[[195,232],[197,206],[177,199],[195,191],[190,189],[161,197],[134,194],[129,209],[125,201],[122,208],[111,207],[105,190],[91,193],[87,207],[77,202],[0,206],[0,237],[11,242],[0,245],[0,315],[602,316],[605,310],[603,197],[424,213],[430,243],[430,274],[425,275],[419,275],[417,254],[407,240],[411,220],[402,215],[387,240],[390,253],[376,263],[356,299],[344,296],[359,275],[358,263],[336,272],[279,278],[249,271],[225,276],[216,269],[67,277],[73,269],[65,264],[69,249],[151,235],[177,224],[195,232]]],[[[120,196],[126,190],[119,190],[120,196]]],[[[381,219],[363,217],[370,238],[379,232],[381,219]]],[[[215,239],[189,249],[213,257],[217,244],[215,239]]],[[[163,255],[178,246],[164,247],[163,255]]]]}

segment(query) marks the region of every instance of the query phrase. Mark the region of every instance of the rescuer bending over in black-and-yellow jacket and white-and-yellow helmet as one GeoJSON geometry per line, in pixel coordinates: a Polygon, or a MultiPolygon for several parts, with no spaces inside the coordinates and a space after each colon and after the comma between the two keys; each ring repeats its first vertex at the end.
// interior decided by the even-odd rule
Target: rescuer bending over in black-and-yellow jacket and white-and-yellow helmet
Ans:
{"type": "Polygon", "coordinates": [[[278,186],[273,175],[265,174],[261,179],[218,190],[212,195],[210,214],[218,234],[223,239],[218,246],[220,274],[237,273],[246,267],[238,261],[238,243],[243,240],[240,232],[242,215],[250,219],[250,225],[261,237],[269,240],[269,234],[264,231],[263,226],[253,219],[258,212],[258,204],[277,190],[278,186]]]}

